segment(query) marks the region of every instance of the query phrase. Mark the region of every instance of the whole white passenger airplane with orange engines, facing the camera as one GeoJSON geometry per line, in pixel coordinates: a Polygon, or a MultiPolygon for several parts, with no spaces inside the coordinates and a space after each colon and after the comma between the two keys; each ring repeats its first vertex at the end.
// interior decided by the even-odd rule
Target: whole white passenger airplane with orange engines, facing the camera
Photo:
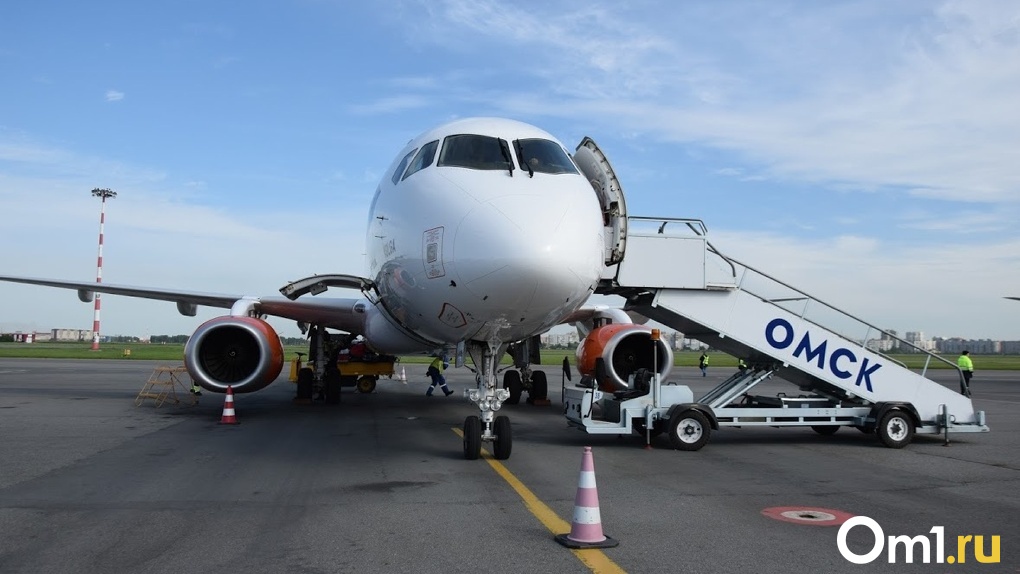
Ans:
{"type": "Polygon", "coordinates": [[[283,346],[266,315],[364,335],[378,353],[456,348],[474,365],[477,388],[468,398],[480,414],[464,421],[464,456],[478,458],[481,442],[491,441],[494,456],[507,459],[510,421],[495,413],[516,403],[522,387],[545,398],[545,373],[529,361],[534,337],[551,327],[572,322],[586,334],[578,370],[604,388],[625,388],[639,368],[668,374],[672,352],[651,343],[650,328],[619,309],[582,307],[604,269],[623,257],[625,211],[619,182],[591,139],[571,156],[532,125],[468,118],[411,140],[387,170],[369,208],[366,276],[314,275],[286,285],[285,297],[0,280],[76,290],[85,302],[95,293],[172,301],[188,316],[199,305],[230,309],[199,326],[185,350],[192,378],[212,392],[250,393],[277,378],[283,346]],[[363,297],[314,297],[328,288],[363,297]],[[519,370],[504,373],[499,388],[507,352],[519,370]]]}

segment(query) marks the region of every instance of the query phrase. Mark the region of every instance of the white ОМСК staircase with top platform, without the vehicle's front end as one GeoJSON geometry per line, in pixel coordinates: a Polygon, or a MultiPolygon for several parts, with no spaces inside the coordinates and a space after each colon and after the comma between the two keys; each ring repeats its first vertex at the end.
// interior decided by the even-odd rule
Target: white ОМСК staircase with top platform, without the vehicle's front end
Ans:
{"type": "Polygon", "coordinates": [[[607,267],[597,293],[624,297],[627,309],[747,361],[749,369],[697,401],[720,424],[867,428],[899,408],[919,433],[988,430],[969,397],[927,378],[934,363],[962,378],[954,363],[723,256],[698,219],[627,220],[623,260],[607,267]],[[894,345],[919,354],[922,367],[885,355],[894,345]],[[802,395],[751,395],[774,378],[802,395]]]}

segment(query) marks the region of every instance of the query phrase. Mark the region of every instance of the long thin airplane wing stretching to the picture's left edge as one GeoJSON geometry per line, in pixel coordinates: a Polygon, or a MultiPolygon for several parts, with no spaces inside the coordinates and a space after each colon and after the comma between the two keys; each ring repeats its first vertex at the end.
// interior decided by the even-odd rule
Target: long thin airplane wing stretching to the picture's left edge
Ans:
{"type": "Polygon", "coordinates": [[[355,334],[363,331],[364,307],[370,305],[364,299],[316,298],[314,301],[295,301],[278,296],[249,297],[191,291],[170,291],[115,283],[97,283],[94,281],[15,277],[10,275],[0,275],[0,281],[74,290],[78,292],[79,299],[84,302],[92,301],[95,293],[170,301],[176,303],[177,311],[188,316],[195,316],[197,312],[196,307],[199,305],[231,309],[240,302],[245,305],[252,305],[259,314],[321,324],[355,334]]]}

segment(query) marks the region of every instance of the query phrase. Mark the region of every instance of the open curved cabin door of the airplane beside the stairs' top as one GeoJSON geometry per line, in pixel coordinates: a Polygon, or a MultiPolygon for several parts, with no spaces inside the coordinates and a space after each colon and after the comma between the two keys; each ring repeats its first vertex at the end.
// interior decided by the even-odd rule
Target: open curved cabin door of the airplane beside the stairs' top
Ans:
{"type": "Polygon", "coordinates": [[[623,201],[623,188],[613,166],[606,159],[595,140],[585,137],[577,144],[574,162],[591,181],[602,205],[602,222],[605,225],[606,265],[623,261],[627,242],[627,206],[623,201]]]}

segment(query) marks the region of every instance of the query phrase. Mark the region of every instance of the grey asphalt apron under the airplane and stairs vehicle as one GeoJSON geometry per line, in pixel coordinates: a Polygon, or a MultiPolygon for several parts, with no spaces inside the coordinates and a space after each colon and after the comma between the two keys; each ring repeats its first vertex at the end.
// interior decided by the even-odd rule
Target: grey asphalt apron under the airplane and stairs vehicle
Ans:
{"type": "MultiPolygon", "coordinates": [[[[493,466],[463,460],[453,429],[476,414],[460,396],[466,369],[448,371],[455,397],[424,397],[424,365],[411,365],[407,385],[345,388],[332,406],[294,405],[280,379],[237,396],[240,424],[220,425],[218,395],[137,407],[154,365],[0,360],[0,573],[591,571],[493,466]]],[[[730,374],[677,371],[696,396],[730,374]]],[[[567,427],[561,375],[548,372],[552,406],[500,411],[514,425],[503,466],[569,523],[592,446],[603,529],[620,542],[603,553],[623,571],[1020,572],[1018,372],[978,374],[974,401],[991,432],[952,435],[949,447],[741,428],[697,453],[567,427]],[[979,564],[971,549],[966,564],[922,564],[920,554],[905,564],[901,547],[896,564],[884,552],[851,564],[837,526],[766,515],[787,507],[867,516],[884,536],[926,535],[932,546],[942,526],[946,555],[959,535],[982,535],[985,554],[1000,536],[1000,563],[979,564]]],[[[875,543],[860,526],[847,538],[859,555],[875,543]]]]}

